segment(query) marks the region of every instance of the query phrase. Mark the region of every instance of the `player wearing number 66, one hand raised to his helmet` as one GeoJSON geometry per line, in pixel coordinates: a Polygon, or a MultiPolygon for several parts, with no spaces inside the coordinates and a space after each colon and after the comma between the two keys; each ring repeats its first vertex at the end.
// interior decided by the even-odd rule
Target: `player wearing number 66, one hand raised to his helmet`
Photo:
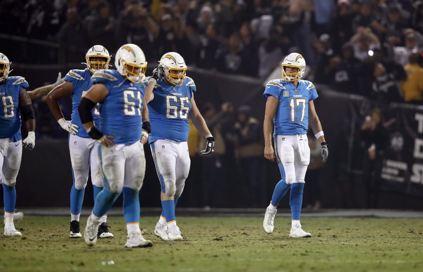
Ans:
{"type": "Polygon", "coordinates": [[[186,76],[184,58],[175,52],[166,53],[157,69],[164,69],[160,72],[164,76],[157,80],[153,94],[146,97],[151,123],[148,143],[162,188],[163,210],[154,233],[163,240],[182,240],[176,225],[175,206],[190,172],[188,117],[207,139],[206,150],[201,151],[203,155],[214,151],[214,138],[195,105],[197,88],[194,80],[186,76]]]}

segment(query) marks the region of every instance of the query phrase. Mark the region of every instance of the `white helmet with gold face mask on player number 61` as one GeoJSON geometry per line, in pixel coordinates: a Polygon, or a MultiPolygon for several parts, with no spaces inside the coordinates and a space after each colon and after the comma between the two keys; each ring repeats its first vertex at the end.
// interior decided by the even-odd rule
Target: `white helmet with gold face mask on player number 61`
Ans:
{"type": "Polygon", "coordinates": [[[146,56],[136,44],[124,44],[115,56],[115,67],[129,81],[140,83],[147,70],[146,56]]]}

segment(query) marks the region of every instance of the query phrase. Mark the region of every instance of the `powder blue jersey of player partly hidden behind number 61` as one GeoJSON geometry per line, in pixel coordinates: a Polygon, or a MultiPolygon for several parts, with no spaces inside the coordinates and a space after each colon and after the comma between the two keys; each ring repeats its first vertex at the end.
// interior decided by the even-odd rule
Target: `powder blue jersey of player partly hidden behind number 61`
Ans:
{"type": "MultiPolygon", "coordinates": [[[[77,125],[79,127],[79,131],[77,133],[77,136],[80,136],[82,138],[90,138],[88,133],[85,131],[84,126],[82,125],[81,118],[79,116],[78,112],[78,105],[81,102],[82,96],[87,92],[91,86],[93,85],[91,83],[91,73],[90,70],[84,69],[84,70],[70,70],[66,76],[65,80],[72,83],[72,86],[74,88],[74,92],[72,93],[72,123],[77,125]]],[[[95,106],[93,111],[93,120],[96,125],[96,127],[99,127],[100,125],[100,113],[98,106],[95,106]]]]}

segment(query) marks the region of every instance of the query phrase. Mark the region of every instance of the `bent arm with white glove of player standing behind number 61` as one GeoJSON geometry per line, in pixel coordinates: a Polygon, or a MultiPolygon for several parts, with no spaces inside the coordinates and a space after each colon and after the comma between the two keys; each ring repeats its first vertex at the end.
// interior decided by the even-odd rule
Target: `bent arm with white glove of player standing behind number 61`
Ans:
{"type": "Polygon", "coordinates": [[[58,100],[71,96],[73,92],[74,87],[72,83],[70,83],[69,81],[65,81],[62,84],[56,86],[54,89],[52,89],[51,92],[49,92],[46,97],[46,101],[49,105],[50,111],[56,118],[60,127],[62,127],[67,132],[71,133],[72,135],[76,135],[79,131],[79,127],[75,124],[72,124],[71,121],[65,120],[65,117],[63,117],[63,113],[60,110],[60,106],[58,103],[58,100]]]}

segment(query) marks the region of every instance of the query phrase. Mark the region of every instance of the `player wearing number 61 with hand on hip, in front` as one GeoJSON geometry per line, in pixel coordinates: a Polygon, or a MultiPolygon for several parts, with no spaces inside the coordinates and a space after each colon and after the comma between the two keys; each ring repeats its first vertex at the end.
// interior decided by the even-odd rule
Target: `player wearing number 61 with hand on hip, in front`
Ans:
{"type": "MultiPolygon", "coordinates": [[[[88,135],[99,142],[100,169],[104,189],[96,198],[84,232],[85,242],[93,246],[101,218],[124,193],[124,216],[128,237],[125,247],[148,247],[140,230],[139,192],[143,186],[146,158],[142,129],[148,130],[148,109],[143,100],[148,81],[143,50],[124,44],[115,55],[116,70],[99,70],[91,77],[93,86],[78,106],[82,125],[88,135]],[[91,114],[99,103],[100,125],[91,114]],[[141,140],[141,141],[140,141],[141,140]]],[[[150,89],[153,88],[151,83],[150,89]]],[[[151,91],[150,91],[151,92],[151,91]]]]}

